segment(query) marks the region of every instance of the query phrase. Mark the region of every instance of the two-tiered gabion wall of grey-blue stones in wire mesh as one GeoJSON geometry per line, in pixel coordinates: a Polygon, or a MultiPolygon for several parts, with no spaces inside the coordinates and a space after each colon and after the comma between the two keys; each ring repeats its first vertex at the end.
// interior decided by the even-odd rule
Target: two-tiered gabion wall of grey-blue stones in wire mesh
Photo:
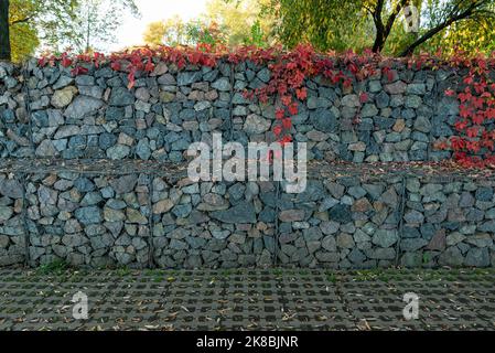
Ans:
{"type": "Polygon", "coordinates": [[[265,67],[161,64],[129,90],[109,67],[72,77],[2,63],[0,265],[494,266],[492,175],[390,163],[450,158],[433,143],[459,114],[443,95],[452,76],[405,69],[348,92],[309,81],[293,136],[313,162],[306,191],[287,194],[185,173],[184,151],[213,132],[273,140],[273,105],[243,96],[269,81],[265,67]]]}

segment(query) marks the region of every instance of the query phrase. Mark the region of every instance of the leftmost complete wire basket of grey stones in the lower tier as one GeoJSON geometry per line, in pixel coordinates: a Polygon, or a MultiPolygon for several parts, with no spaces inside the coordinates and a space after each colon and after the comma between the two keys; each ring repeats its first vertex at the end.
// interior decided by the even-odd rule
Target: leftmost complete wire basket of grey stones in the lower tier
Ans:
{"type": "Polygon", "coordinates": [[[26,184],[30,265],[149,265],[147,174],[33,173],[26,184]]]}

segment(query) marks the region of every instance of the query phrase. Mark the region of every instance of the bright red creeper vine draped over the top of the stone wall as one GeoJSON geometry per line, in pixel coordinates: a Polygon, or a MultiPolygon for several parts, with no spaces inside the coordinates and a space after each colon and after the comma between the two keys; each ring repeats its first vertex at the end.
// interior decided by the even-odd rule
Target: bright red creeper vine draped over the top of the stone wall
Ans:
{"type": "MultiPolygon", "coordinates": [[[[438,141],[435,148],[450,149],[454,159],[466,168],[495,165],[495,58],[482,55],[470,56],[459,52],[451,57],[431,56],[427,54],[408,58],[388,58],[372,52],[357,55],[353,52],[344,54],[316,53],[309,45],[299,45],[287,52],[281,47],[259,49],[244,46],[228,51],[219,45],[200,44],[197,47],[140,47],[126,52],[104,55],[100,53],[60,56],[49,55],[39,60],[39,66],[62,65],[71,68],[73,75],[88,73],[90,66],[109,65],[114,71],[127,73],[128,88],[132,89],[138,75],[152,73],[158,63],[175,64],[179,69],[186,65],[214,67],[220,61],[232,64],[250,61],[257,65],[267,65],[271,77],[261,88],[245,90],[244,95],[260,103],[273,99],[276,103],[276,124],[272,132],[278,141],[292,141],[292,117],[299,113],[299,104],[308,98],[306,83],[309,78],[322,77],[329,84],[341,86],[344,92],[353,92],[355,83],[370,76],[381,75],[384,79],[394,81],[396,71],[409,68],[413,71],[450,67],[460,76],[458,85],[444,92],[460,103],[460,113],[454,126],[455,136],[438,141]]],[[[354,89],[354,93],[355,89],[354,89]]],[[[359,103],[368,101],[367,92],[357,92],[359,103]]],[[[361,121],[359,109],[355,120],[361,121]]]]}

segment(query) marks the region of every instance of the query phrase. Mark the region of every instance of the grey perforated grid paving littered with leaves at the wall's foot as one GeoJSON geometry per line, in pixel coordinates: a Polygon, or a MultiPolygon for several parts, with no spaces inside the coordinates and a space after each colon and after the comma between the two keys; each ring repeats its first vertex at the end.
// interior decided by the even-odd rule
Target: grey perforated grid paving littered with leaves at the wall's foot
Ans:
{"type": "Polygon", "coordinates": [[[495,330],[494,270],[0,270],[0,330],[495,330]],[[73,296],[88,319],[73,318],[73,296]],[[419,296],[406,321],[403,296],[419,296]]]}

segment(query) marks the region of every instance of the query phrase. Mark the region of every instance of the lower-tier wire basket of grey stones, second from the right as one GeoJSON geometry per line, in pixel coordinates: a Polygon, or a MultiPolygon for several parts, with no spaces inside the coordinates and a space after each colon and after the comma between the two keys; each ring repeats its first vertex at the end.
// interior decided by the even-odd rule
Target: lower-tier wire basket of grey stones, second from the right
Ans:
{"type": "Polygon", "coordinates": [[[329,173],[281,197],[279,263],[294,267],[375,268],[395,264],[401,178],[329,173]]]}

